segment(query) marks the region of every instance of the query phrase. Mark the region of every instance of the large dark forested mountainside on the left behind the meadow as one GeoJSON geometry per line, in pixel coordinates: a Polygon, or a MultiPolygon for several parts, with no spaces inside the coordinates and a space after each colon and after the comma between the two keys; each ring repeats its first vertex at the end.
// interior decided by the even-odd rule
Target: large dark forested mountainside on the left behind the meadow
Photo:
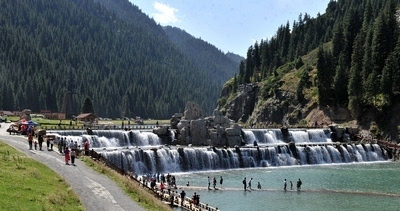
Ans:
{"type": "Polygon", "coordinates": [[[122,20],[93,0],[0,0],[0,109],[60,111],[73,68],[76,113],[86,96],[107,117],[211,111],[219,85],[129,8],[122,20]]]}

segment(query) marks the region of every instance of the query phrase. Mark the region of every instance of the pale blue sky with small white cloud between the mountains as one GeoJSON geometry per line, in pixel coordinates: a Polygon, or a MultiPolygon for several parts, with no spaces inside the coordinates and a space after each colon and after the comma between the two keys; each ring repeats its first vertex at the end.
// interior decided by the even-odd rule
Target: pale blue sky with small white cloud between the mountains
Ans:
{"type": "Polygon", "coordinates": [[[129,0],[162,26],[181,28],[223,52],[243,57],[305,13],[325,13],[330,0],[129,0]]]}

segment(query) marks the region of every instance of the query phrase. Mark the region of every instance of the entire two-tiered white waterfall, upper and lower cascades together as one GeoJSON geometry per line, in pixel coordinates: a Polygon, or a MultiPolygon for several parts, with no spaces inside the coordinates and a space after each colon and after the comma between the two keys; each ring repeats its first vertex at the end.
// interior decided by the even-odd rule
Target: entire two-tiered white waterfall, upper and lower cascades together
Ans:
{"type": "Polygon", "coordinates": [[[79,145],[82,141],[88,140],[91,147],[107,160],[121,169],[137,174],[351,163],[388,159],[386,151],[377,144],[334,145],[329,131],[322,129],[289,130],[286,138],[279,129],[244,130],[248,146],[253,145],[256,141],[259,147],[219,149],[163,147],[157,135],[146,131],[105,130],[93,131],[93,135],[88,135],[86,132],[69,132],[52,131],[51,133],[66,137],[67,140],[77,141],[79,145]],[[291,146],[286,142],[293,142],[296,145],[291,146]],[[117,150],[116,147],[123,148],[117,150]]]}

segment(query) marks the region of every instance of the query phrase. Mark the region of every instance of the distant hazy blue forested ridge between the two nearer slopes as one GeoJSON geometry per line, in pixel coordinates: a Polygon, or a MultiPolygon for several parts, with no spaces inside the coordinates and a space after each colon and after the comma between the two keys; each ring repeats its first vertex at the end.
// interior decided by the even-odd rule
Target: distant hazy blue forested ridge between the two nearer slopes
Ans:
{"type": "Polygon", "coordinates": [[[235,60],[227,57],[215,46],[193,37],[182,29],[166,26],[164,30],[168,38],[190,61],[221,86],[238,72],[240,61],[237,61],[237,58],[235,60]]]}

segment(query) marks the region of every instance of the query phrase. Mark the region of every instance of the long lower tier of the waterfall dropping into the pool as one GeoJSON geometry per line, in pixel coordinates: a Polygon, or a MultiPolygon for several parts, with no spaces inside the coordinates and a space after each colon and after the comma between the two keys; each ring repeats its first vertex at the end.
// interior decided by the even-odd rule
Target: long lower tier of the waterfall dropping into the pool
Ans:
{"type": "Polygon", "coordinates": [[[365,151],[361,145],[344,146],[297,146],[296,158],[288,146],[210,149],[210,148],[161,148],[101,151],[100,153],[117,166],[136,172],[181,172],[215,169],[251,168],[268,166],[292,166],[330,163],[384,161],[382,149],[374,144],[365,151]],[[347,148],[352,150],[347,150],[347,148]],[[360,158],[360,151],[371,156],[360,158]],[[121,162],[121,153],[128,161],[121,162]],[[374,156],[372,156],[372,154],[374,156]],[[121,166],[121,163],[124,163],[121,166]]]}

